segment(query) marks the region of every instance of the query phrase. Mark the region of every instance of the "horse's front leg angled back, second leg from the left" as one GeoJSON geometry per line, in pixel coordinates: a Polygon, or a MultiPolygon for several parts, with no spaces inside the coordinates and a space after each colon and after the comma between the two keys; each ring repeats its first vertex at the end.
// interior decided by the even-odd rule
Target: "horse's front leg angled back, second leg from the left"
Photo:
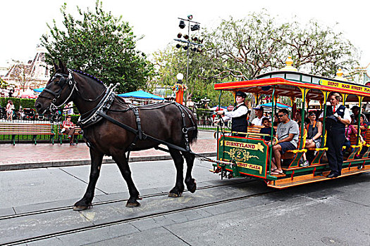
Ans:
{"type": "Polygon", "coordinates": [[[128,186],[128,193],[130,193],[130,198],[126,203],[126,207],[139,207],[140,203],[137,200],[139,198],[139,191],[135,187],[134,181],[131,178],[131,171],[130,167],[128,166],[128,161],[125,157],[125,153],[119,153],[117,155],[112,155],[113,160],[117,163],[118,168],[121,171],[123,179],[125,179],[127,186],[128,186]]]}

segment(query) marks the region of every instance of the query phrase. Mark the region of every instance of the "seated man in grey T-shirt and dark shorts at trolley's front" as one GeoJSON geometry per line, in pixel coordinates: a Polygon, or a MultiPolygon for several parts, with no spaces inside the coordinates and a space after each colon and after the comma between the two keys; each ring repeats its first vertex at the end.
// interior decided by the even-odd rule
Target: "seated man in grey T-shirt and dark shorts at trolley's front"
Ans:
{"type": "Polygon", "coordinates": [[[297,122],[289,119],[288,110],[279,110],[278,118],[280,121],[278,130],[276,131],[278,142],[276,145],[273,145],[273,157],[276,163],[271,162],[272,175],[283,174],[283,169],[281,169],[281,155],[287,150],[295,150],[297,148],[298,135],[300,133],[297,122]]]}

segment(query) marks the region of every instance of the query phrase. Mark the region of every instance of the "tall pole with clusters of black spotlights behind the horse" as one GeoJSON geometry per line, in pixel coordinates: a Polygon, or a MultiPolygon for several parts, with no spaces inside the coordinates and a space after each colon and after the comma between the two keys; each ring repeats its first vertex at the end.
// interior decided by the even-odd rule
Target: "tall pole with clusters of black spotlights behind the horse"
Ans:
{"type": "MultiPolygon", "coordinates": [[[[187,22],[187,34],[183,35],[181,33],[178,33],[178,35],[177,35],[178,39],[173,39],[175,41],[178,41],[180,43],[185,44],[184,46],[181,46],[180,43],[178,43],[178,44],[176,44],[176,48],[184,48],[185,51],[186,51],[186,77],[185,77],[185,85],[186,85],[187,84],[187,79],[189,77],[189,51],[191,50],[191,51],[194,51],[194,52],[202,52],[202,48],[200,48],[200,47],[203,46],[203,44],[202,44],[203,39],[201,40],[201,39],[199,39],[199,37],[190,37],[190,30],[191,31],[200,30],[200,23],[192,20],[192,15],[187,15],[187,19],[184,19],[184,18],[178,18],[178,19],[180,20],[180,24],[178,26],[181,29],[184,29],[186,27],[185,22],[187,22]],[[190,25],[190,24],[194,24],[194,25],[190,25]],[[183,37],[185,40],[180,39],[181,37],[183,37]],[[192,40],[192,41],[190,41],[190,40],[192,40]]],[[[183,101],[183,100],[181,100],[181,101],[183,101]]],[[[185,98],[185,105],[186,105],[186,98],[185,98]]]]}

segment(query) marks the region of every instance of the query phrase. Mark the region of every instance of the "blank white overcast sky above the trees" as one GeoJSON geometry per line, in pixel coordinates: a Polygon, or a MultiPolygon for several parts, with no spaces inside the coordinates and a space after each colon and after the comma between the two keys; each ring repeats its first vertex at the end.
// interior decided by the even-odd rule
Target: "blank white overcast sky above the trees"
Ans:
{"type": "MultiPolygon", "coordinates": [[[[1,0],[0,66],[6,66],[12,59],[32,59],[39,38],[47,32],[46,23],[55,19],[61,26],[59,9],[64,2],[68,13],[73,13],[75,6],[82,9],[95,6],[95,0],[1,0]]],[[[370,63],[370,1],[103,0],[104,11],[122,15],[137,36],[144,35],[137,47],[148,54],[163,49],[175,38],[180,30],[178,17],[186,18],[192,14],[193,20],[201,22],[201,27],[215,27],[230,15],[244,18],[247,13],[261,11],[262,8],[273,16],[278,15],[281,20],[290,20],[297,15],[302,23],[312,18],[329,26],[338,22],[335,30],[343,32],[344,37],[362,51],[361,65],[370,63]]]]}

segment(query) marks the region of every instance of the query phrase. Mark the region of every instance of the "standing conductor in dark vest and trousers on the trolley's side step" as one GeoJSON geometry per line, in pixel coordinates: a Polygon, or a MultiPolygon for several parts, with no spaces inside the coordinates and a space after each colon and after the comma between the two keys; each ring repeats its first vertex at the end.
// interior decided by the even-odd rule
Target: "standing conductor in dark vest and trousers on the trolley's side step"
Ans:
{"type": "MultiPolygon", "coordinates": [[[[326,155],[328,156],[329,167],[331,169],[328,178],[335,178],[342,174],[343,152],[342,147],[345,143],[345,126],[350,124],[350,112],[345,106],[340,105],[342,97],[339,93],[331,93],[328,100],[331,105],[326,108],[326,124],[328,131],[326,136],[326,155]]],[[[323,118],[323,112],[320,119],[323,118]]]]}

